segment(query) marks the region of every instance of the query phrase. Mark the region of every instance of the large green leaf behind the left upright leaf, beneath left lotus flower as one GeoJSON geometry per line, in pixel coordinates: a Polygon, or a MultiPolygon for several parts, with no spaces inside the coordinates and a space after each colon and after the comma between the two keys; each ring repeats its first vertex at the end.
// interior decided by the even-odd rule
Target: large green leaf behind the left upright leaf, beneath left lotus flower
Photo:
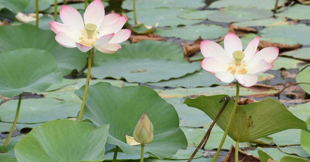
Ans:
{"type": "Polygon", "coordinates": [[[55,33],[37,28],[30,24],[0,27],[0,50],[17,48],[38,48],[48,50],[58,63],[57,72],[68,75],[73,69],[78,71],[85,67],[87,56],[78,48],[61,46],[55,40],[55,33]]]}

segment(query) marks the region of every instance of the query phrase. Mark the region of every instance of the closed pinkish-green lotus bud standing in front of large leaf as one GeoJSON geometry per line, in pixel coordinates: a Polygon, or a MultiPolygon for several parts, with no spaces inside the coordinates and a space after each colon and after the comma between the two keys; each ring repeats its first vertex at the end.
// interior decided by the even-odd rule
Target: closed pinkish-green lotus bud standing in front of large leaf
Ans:
{"type": "Polygon", "coordinates": [[[153,141],[153,131],[154,131],[153,124],[151,123],[151,121],[148,119],[148,116],[144,112],[135,127],[133,135],[134,139],[135,141],[140,142],[141,145],[151,143],[153,141]]]}

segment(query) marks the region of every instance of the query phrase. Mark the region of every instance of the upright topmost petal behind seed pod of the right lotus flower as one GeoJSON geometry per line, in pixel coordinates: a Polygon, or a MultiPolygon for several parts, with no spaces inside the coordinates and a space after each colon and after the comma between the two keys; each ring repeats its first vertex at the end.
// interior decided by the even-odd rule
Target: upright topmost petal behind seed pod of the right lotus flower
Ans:
{"type": "Polygon", "coordinates": [[[242,43],[241,40],[237,35],[234,33],[228,33],[226,34],[224,38],[224,49],[225,52],[230,59],[232,59],[232,53],[235,52],[236,50],[242,51],[242,43]]]}

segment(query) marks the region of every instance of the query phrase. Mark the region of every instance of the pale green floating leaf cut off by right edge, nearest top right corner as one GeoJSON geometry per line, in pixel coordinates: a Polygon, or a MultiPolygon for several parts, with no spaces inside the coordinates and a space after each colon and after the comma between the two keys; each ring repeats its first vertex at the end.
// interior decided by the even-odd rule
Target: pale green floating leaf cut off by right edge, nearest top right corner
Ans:
{"type": "MultiPolygon", "coordinates": [[[[282,9],[279,9],[282,10],[282,9]]],[[[276,14],[276,16],[287,17],[290,19],[298,19],[298,20],[310,20],[310,6],[295,4],[294,6],[289,7],[287,10],[276,14]]]]}

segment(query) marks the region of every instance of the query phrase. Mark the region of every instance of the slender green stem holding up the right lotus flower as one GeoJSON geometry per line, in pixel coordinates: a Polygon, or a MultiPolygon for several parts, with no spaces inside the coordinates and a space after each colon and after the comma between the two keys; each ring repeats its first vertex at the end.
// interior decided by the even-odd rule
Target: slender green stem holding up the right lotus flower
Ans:
{"type": "Polygon", "coordinates": [[[231,115],[230,115],[230,117],[229,117],[228,124],[227,124],[226,130],[225,130],[224,136],[223,136],[223,138],[222,138],[221,143],[219,144],[219,148],[217,149],[217,151],[216,151],[216,153],[215,153],[215,156],[214,156],[212,162],[215,162],[217,156],[219,155],[219,151],[221,151],[221,149],[222,149],[222,147],[223,147],[223,144],[224,144],[224,141],[225,141],[225,139],[226,139],[226,136],[227,136],[227,133],[228,133],[230,124],[232,123],[232,118],[233,118],[233,116],[235,115],[235,112],[236,112],[236,108],[237,108],[237,105],[238,105],[238,99],[239,99],[239,82],[237,81],[237,91],[236,91],[236,100],[235,100],[235,104],[233,105],[232,113],[231,113],[231,115]]]}

